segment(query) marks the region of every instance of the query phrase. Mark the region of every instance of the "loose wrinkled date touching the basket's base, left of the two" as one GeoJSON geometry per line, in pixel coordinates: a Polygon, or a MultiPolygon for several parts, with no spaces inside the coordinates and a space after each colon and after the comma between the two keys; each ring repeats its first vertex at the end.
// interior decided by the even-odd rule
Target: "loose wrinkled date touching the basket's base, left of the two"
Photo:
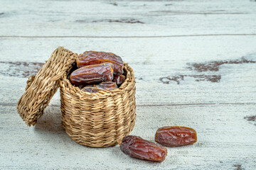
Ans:
{"type": "Polygon", "coordinates": [[[130,157],[153,162],[163,162],[167,155],[165,147],[132,135],[123,138],[120,148],[130,157]]]}

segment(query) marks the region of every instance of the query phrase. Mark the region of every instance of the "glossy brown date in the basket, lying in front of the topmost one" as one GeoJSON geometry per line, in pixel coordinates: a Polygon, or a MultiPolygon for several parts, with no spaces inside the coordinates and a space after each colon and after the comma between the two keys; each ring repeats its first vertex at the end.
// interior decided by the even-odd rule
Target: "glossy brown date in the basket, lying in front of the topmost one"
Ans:
{"type": "Polygon", "coordinates": [[[105,62],[81,67],[70,74],[70,79],[75,85],[111,81],[113,79],[113,64],[105,62]]]}

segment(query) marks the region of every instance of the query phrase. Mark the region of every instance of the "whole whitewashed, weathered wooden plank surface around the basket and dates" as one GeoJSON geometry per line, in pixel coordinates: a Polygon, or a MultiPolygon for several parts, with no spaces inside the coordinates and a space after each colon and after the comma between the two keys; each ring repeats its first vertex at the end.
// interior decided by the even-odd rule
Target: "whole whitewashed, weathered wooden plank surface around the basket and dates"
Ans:
{"type": "Polygon", "coordinates": [[[255,169],[256,1],[0,0],[0,169],[255,169]],[[134,69],[132,135],[183,125],[198,142],[162,163],[76,144],[55,94],[35,127],[16,112],[51,52],[114,52],[134,69]]]}

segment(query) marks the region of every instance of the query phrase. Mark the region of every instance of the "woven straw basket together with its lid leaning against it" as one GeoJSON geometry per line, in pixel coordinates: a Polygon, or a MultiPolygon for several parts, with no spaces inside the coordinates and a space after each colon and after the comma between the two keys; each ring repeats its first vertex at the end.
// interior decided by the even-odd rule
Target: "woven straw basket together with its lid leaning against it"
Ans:
{"type": "Polygon", "coordinates": [[[127,79],[118,89],[90,94],[67,79],[77,56],[58,47],[38,74],[28,79],[18,113],[27,125],[35,125],[60,86],[62,122],[70,138],[89,147],[116,145],[135,124],[134,72],[124,64],[127,79]]]}

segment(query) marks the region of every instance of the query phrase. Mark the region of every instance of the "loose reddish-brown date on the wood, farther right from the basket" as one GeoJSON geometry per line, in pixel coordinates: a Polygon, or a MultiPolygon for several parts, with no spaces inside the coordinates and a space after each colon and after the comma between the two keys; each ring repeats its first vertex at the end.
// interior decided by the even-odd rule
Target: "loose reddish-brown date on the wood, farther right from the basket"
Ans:
{"type": "Polygon", "coordinates": [[[182,126],[166,126],[156,131],[155,141],[166,147],[191,145],[197,140],[196,130],[182,126]]]}

